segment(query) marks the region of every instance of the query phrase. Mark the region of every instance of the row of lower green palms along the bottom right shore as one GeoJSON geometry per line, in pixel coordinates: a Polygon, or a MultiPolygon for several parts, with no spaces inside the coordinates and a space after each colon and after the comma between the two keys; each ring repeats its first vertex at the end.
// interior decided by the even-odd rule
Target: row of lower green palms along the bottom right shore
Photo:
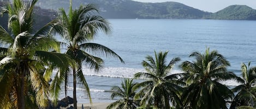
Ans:
{"type": "Polygon", "coordinates": [[[223,109],[255,108],[256,67],[241,65],[241,77],[229,72],[225,57],[206,49],[205,53],[189,55],[193,61],[184,61],[180,68],[183,73],[170,74],[180,58],[166,60],[168,52],[154,52],[141,62],[146,72],[134,75],[135,79],[145,78],[140,83],[124,79],[121,86],[111,88],[111,98],[118,98],[107,108],[179,108],[179,109],[223,109]],[[221,82],[235,80],[240,85],[230,88],[221,82]]]}

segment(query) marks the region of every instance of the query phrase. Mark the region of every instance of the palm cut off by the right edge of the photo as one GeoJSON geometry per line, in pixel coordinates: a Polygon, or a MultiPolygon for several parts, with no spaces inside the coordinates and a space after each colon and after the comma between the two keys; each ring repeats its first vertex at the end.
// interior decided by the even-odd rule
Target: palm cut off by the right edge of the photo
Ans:
{"type": "MultiPolygon", "coordinates": [[[[251,62],[248,63],[248,68],[251,62]]],[[[237,106],[253,106],[256,107],[256,67],[248,69],[245,63],[242,63],[242,84],[236,86],[232,90],[238,92],[232,101],[230,108],[237,106]]]]}

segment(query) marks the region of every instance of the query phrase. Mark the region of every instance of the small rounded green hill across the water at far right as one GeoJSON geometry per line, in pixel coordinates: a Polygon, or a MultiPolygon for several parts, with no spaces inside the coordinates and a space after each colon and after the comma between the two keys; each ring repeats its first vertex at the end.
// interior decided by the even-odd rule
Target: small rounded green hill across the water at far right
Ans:
{"type": "Polygon", "coordinates": [[[210,15],[218,20],[256,20],[256,10],[247,5],[230,5],[210,15]]]}

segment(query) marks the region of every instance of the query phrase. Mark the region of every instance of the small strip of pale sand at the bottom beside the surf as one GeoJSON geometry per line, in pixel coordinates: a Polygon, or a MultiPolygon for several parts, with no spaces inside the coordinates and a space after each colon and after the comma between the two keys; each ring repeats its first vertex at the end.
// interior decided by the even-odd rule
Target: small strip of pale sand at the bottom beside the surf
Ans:
{"type": "Polygon", "coordinates": [[[94,102],[92,105],[90,103],[78,103],[78,108],[81,109],[84,105],[84,109],[105,109],[109,104],[111,102],[94,102]]]}

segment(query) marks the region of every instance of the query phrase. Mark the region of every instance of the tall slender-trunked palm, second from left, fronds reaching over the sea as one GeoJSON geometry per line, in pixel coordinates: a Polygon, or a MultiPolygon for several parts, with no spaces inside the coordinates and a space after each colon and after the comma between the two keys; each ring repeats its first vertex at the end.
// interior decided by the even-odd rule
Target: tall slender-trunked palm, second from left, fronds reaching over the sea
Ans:
{"type": "Polygon", "coordinates": [[[72,73],[74,87],[74,108],[76,109],[76,79],[82,83],[82,86],[86,89],[85,93],[87,93],[91,101],[90,90],[88,88],[85,76],[82,73],[82,65],[84,64],[89,68],[98,70],[103,64],[102,59],[93,56],[92,54],[98,56],[114,56],[120,59],[121,62],[123,62],[123,60],[111,49],[102,46],[101,44],[88,43],[88,41],[93,39],[94,35],[96,35],[99,30],[102,30],[106,34],[110,32],[109,22],[96,13],[98,10],[96,7],[94,7],[94,5],[81,5],[79,9],[73,10],[72,0],[70,0],[69,14],[67,15],[63,8],[60,9],[60,11],[61,16],[57,25],[62,28],[57,28],[55,30],[67,42],[62,43],[63,47],[67,48],[65,54],[69,55],[75,61],[75,64],[70,66],[71,71],[69,71],[69,69],[62,69],[61,72],[56,74],[56,78],[52,81],[53,84],[51,86],[52,92],[55,92],[55,95],[52,95],[52,97],[58,97],[61,86],[60,84],[65,82],[66,87],[69,74],[72,73]]]}

